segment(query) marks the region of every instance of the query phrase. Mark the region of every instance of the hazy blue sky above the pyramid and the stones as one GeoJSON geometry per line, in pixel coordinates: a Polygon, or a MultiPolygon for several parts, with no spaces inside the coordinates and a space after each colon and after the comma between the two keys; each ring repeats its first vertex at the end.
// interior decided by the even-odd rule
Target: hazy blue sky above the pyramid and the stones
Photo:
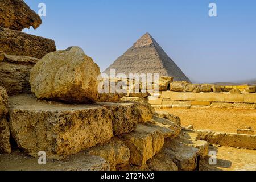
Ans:
{"type": "Polygon", "coordinates": [[[255,0],[25,0],[46,17],[29,34],[55,40],[57,49],[80,46],[104,71],[150,32],[192,81],[256,78],[255,0]],[[209,3],[217,17],[208,15],[209,3]]]}

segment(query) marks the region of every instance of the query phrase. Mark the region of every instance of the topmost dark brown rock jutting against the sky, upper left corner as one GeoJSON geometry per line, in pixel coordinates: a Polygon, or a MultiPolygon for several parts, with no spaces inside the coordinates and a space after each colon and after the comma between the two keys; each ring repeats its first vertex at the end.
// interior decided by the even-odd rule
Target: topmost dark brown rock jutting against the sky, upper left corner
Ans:
{"type": "Polygon", "coordinates": [[[34,29],[42,24],[42,20],[35,11],[22,0],[0,1],[0,26],[21,31],[24,28],[34,29]]]}

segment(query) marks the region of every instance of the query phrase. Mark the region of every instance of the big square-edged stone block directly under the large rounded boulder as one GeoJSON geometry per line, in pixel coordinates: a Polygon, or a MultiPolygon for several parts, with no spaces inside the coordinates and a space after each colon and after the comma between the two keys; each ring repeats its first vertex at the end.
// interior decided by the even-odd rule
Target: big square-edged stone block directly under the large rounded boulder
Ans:
{"type": "Polygon", "coordinates": [[[98,105],[39,101],[31,95],[9,98],[11,134],[28,154],[46,151],[63,159],[113,137],[112,113],[98,105]]]}

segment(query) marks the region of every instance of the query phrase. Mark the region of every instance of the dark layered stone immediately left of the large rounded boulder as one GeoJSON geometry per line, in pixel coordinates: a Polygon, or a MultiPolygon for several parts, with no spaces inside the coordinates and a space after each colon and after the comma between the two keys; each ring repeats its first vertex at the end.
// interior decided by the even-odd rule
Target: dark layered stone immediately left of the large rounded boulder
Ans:
{"type": "Polygon", "coordinates": [[[3,61],[0,61],[0,86],[9,96],[30,93],[30,71],[38,61],[34,57],[4,54],[3,61]]]}

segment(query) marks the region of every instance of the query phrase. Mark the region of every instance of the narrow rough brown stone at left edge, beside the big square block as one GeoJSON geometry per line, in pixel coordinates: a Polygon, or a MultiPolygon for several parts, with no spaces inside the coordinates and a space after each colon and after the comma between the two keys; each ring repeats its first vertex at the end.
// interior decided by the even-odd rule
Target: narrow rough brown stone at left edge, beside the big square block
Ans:
{"type": "Polygon", "coordinates": [[[10,153],[10,131],[9,122],[7,122],[8,113],[8,95],[6,90],[0,87],[0,154],[10,153]]]}

